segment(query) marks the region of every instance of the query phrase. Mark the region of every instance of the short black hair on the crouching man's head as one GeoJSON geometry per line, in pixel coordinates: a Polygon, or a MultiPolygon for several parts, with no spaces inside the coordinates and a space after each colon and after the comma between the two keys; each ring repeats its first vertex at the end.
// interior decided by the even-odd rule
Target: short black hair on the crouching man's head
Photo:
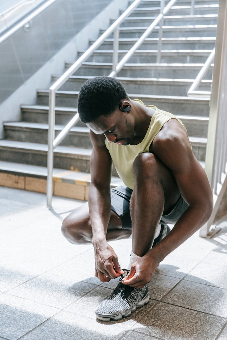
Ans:
{"type": "Polygon", "coordinates": [[[95,77],[80,88],[78,113],[80,120],[91,123],[100,116],[111,116],[123,99],[129,99],[124,86],[111,77],[95,77]]]}

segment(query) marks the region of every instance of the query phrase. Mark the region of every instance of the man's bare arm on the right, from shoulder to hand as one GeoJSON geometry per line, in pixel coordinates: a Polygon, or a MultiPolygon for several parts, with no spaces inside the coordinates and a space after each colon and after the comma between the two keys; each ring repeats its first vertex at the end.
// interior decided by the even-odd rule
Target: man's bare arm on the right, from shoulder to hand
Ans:
{"type": "Polygon", "coordinates": [[[171,119],[164,124],[153,140],[152,152],[171,170],[189,208],[172,231],[131,267],[129,279],[124,284],[136,288],[150,281],[159,263],[204,225],[213,209],[207,175],[193,155],[186,130],[177,120],[171,119]]]}

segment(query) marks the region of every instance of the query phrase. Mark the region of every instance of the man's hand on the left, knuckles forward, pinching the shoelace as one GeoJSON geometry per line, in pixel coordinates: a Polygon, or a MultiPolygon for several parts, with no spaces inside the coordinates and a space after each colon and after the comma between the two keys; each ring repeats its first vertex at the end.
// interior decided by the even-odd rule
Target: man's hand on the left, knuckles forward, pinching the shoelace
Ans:
{"type": "Polygon", "coordinates": [[[120,268],[117,255],[113,248],[105,242],[95,247],[95,276],[102,282],[108,282],[111,278],[124,274],[120,268]]]}

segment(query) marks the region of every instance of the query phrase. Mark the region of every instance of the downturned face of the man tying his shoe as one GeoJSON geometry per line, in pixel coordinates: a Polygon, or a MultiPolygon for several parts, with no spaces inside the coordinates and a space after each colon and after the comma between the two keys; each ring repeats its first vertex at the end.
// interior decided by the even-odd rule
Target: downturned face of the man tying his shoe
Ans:
{"type": "Polygon", "coordinates": [[[134,119],[117,109],[111,116],[100,116],[86,124],[95,134],[104,135],[109,143],[129,145],[134,137],[134,119]]]}

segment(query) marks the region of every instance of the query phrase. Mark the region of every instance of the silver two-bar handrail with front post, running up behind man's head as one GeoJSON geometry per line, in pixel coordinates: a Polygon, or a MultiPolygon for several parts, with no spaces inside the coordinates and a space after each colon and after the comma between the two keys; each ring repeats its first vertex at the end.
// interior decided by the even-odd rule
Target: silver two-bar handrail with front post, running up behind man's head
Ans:
{"type": "MultiPolygon", "coordinates": [[[[61,131],[59,136],[54,139],[54,125],[55,125],[55,91],[57,91],[68,79],[69,77],[85,62],[85,60],[99,47],[103,41],[114,31],[114,37],[118,36],[118,30],[120,24],[129,16],[134,9],[140,4],[142,0],[135,0],[127,10],[95,41],[95,43],[87,49],[86,52],[50,87],[49,92],[49,129],[48,129],[48,155],[47,155],[47,206],[51,207],[52,201],[52,189],[53,189],[53,150],[59,143],[65,138],[72,126],[74,126],[79,121],[78,113],[70,120],[70,122],[61,131]]],[[[123,59],[117,64],[117,51],[118,43],[114,44],[113,51],[113,71],[110,73],[109,77],[115,77],[116,74],[123,68],[125,63],[133,55],[136,49],[143,43],[144,39],[151,33],[155,26],[161,21],[163,16],[168,12],[169,8],[177,0],[171,0],[167,6],[164,8],[162,13],[152,22],[140,39],[135,43],[135,45],[128,51],[128,53],[123,57],[123,59]]]]}

